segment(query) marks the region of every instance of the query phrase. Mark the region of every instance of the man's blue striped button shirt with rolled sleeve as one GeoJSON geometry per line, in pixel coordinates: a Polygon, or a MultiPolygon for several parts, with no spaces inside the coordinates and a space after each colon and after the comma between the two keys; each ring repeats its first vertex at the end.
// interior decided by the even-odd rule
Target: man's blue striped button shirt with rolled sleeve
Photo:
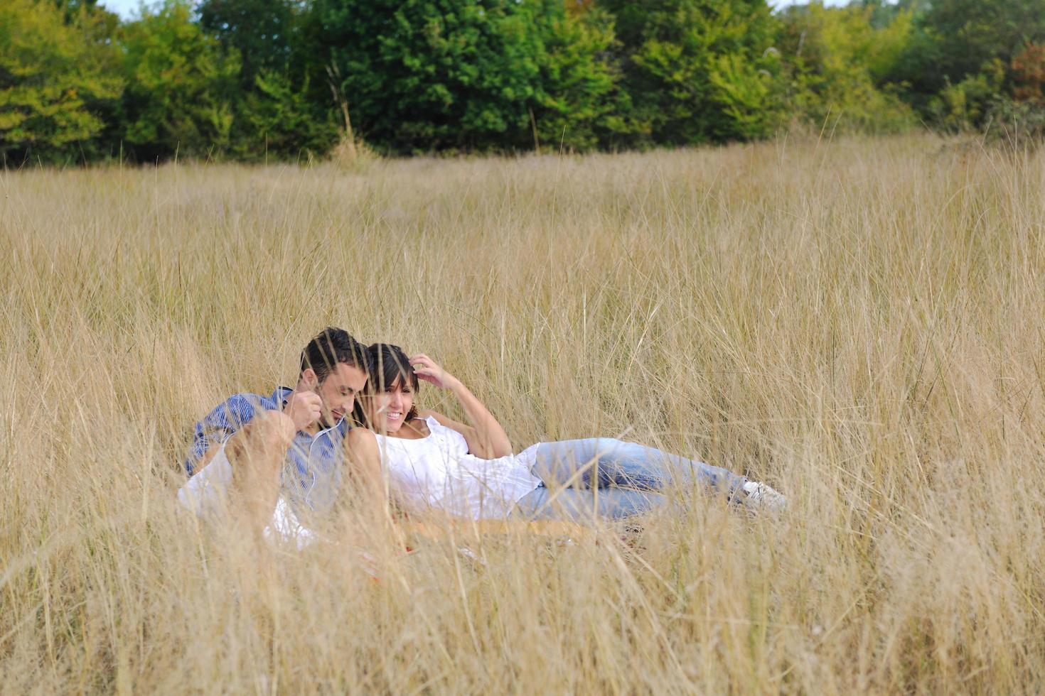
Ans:
{"type": "MultiPolygon", "coordinates": [[[[288,387],[276,387],[271,397],[238,393],[218,404],[192,431],[192,446],[185,458],[185,472],[192,476],[196,465],[211,447],[219,446],[237,430],[251,422],[259,410],[280,410],[294,393],[288,387]]],[[[300,509],[304,505],[318,512],[328,511],[341,486],[341,463],[345,434],[351,426],[348,418],[321,430],[315,435],[298,431],[287,449],[283,465],[283,496],[300,509]]]]}

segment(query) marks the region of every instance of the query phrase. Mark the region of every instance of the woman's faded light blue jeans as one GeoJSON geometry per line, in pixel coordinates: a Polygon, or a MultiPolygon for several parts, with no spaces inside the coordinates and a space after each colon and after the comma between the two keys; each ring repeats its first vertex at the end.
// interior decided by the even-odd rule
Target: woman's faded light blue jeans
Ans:
{"type": "Polygon", "coordinates": [[[537,446],[531,470],[541,485],[515,503],[531,520],[626,518],[667,503],[668,484],[699,485],[730,498],[747,481],[719,466],[605,437],[537,446]]]}

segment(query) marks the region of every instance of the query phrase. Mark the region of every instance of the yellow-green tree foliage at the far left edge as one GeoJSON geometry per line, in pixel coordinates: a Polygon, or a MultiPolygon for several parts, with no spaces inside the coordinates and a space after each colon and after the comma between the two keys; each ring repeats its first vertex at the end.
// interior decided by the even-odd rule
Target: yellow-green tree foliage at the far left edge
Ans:
{"type": "Polygon", "coordinates": [[[101,113],[121,90],[110,46],[97,41],[107,20],[54,4],[0,3],[0,155],[52,161],[104,127],[101,113]]]}

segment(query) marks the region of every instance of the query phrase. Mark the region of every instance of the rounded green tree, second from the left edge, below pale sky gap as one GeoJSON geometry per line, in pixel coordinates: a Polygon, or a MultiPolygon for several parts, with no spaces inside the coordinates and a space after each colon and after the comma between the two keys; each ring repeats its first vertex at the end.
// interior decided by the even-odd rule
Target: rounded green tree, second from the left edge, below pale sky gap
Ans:
{"type": "Polygon", "coordinates": [[[176,152],[211,157],[231,144],[238,52],[192,21],[188,0],[167,0],[122,34],[122,134],[139,161],[176,152]]]}

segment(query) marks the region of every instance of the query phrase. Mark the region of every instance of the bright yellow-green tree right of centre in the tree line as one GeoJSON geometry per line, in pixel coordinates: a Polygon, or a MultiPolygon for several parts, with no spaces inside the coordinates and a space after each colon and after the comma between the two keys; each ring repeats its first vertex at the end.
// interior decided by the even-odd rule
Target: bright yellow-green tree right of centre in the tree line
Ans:
{"type": "Polygon", "coordinates": [[[792,116],[859,131],[898,131],[914,123],[889,76],[906,50],[912,17],[876,7],[813,2],[784,16],[781,47],[792,116]]]}

